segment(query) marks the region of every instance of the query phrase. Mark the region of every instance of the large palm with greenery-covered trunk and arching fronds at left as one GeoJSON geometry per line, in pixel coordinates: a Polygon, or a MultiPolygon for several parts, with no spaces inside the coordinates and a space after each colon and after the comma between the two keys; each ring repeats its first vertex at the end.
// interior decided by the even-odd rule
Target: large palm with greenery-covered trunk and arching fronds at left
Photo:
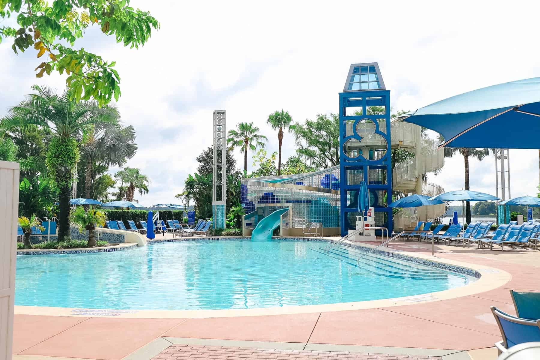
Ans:
{"type": "Polygon", "coordinates": [[[73,172],[80,154],[77,138],[86,140],[94,126],[117,124],[116,109],[100,107],[97,101],[72,100],[71,92],[59,96],[49,87],[32,86],[33,94],[0,120],[0,136],[16,128],[36,125],[50,128],[52,140],[45,157],[49,175],[56,181],[59,193],[58,241],[68,240],[69,200],[73,172]]]}

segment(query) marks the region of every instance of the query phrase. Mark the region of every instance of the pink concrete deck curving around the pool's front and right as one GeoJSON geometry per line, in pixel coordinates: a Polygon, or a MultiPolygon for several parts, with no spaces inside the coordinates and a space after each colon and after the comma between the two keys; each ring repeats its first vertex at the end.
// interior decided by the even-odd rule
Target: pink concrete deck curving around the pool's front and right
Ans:
{"type": "MultiPolygon", "coordinates": [[[[390,248],[425,252],[430,246],[408,242],[390,248]]],[[[500,288],[450,300],[328,313],[188,319],[16,315],[14,353],[117,360],[160,336],[479,349],[492,347],[501,338],[490,305],[514,314],[509,289],[540,291],[537,250],[495,252],[437,246],[436,255],[499,268],[508,271],[512,279],[500,288]]]]}

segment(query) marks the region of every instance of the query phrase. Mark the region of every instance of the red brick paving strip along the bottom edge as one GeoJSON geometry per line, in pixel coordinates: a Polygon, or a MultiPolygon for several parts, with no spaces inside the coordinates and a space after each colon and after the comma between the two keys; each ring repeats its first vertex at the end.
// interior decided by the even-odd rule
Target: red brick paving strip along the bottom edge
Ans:
{"type": "Polygon", "coordinates": [[[280,350],[213,345],[171,345],[153,360],[442,360],[440,356],[374,354],[347,351],[280,350]]]}

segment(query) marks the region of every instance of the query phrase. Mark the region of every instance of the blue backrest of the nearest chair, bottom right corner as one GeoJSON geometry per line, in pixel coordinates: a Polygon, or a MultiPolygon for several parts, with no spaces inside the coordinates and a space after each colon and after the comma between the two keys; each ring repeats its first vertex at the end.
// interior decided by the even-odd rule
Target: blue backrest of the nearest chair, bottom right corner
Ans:
{"type": "Polygon", "coordinates": [[[505,348],[508,349],[514,345],[531,341],[540,341],[539,322],[508,315],[494,306],[489,308],[495,316],[497,325],[499,325],[505,348]]]}

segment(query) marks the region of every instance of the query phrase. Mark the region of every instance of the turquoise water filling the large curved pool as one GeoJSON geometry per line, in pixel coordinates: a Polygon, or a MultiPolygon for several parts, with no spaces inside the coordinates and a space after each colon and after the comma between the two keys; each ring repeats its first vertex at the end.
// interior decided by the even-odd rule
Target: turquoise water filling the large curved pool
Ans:
{"type": "Polygon", "coordinates": [[[245,309],[375,300],[473,277],[319,241],[158,243],[123,252],[17,256],[16,305],[245,309]]]}

